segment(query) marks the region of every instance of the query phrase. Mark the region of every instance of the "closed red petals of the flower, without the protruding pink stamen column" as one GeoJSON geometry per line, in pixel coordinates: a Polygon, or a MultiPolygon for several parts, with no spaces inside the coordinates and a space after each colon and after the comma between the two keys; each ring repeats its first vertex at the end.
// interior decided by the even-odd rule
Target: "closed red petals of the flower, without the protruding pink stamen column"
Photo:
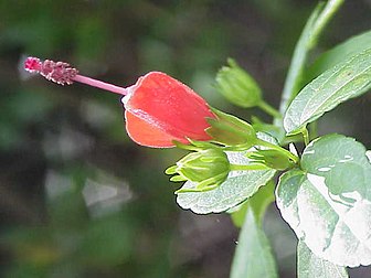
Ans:
{"type": "Polygon", "coordinates": [[[173,147],[173,140],[189,143],[187,138],[205,141],[206,118],[215,118],[205,100],[191,88],[159,72],[140,77],[126,88],[126,130],[142,146],[173,147]]]}

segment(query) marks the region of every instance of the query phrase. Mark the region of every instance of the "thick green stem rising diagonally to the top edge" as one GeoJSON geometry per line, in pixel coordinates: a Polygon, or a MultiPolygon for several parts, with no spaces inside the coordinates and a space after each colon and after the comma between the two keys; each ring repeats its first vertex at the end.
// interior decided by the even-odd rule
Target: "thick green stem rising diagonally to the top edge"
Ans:
{"type": "MultiPolygon", "coordinates": [[[[326,4],[319,3],[307,21],[303,33],[295,46],[293,60],[285,81],[279,111],[284,115],[294,97],[298,94],[308,53],[316,46],[317,41],[326,26],[344,0],[329,0],[326,4]]],[[[282,127],[282,119],[275,119],[275,125],[282,127]]]]}

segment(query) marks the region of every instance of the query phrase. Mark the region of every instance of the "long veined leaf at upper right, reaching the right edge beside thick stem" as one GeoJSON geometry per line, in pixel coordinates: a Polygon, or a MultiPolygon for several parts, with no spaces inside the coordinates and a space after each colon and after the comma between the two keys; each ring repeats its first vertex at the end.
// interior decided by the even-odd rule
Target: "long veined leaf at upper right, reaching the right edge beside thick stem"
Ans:
{"type": "Polygon", "coordinates": [[[371,88],[371,49],[328,70],[295,97],[284,117],[288,135],[300,132],[339,104],[371,88]]]}

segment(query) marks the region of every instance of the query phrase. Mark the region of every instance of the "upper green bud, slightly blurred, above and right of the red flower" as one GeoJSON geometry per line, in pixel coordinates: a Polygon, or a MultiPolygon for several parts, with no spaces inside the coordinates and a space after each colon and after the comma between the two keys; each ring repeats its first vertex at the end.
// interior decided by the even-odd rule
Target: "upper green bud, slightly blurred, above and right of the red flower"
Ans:
{"type": "Polygon", "coordinates": [[[232,104],[240,107],[258,106],[262,92],[254,78],[229,58],[229,66],[223,66],[216,74],[216,89],[232,104]]]}

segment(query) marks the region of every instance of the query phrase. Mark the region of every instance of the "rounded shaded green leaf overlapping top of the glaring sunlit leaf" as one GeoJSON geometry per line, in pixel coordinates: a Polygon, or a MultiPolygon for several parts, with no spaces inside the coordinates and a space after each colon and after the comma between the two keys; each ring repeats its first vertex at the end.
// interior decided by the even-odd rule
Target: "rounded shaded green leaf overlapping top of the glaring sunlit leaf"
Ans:
{"type": "Polygon", "coordinates": [[[301,168],[324,177],[331,194],[344,197],[346,193],[357,191],[371,201],[371,164],[365,151],[363,145],[353,138],[324,136],[304,150],[301,168]]]}

